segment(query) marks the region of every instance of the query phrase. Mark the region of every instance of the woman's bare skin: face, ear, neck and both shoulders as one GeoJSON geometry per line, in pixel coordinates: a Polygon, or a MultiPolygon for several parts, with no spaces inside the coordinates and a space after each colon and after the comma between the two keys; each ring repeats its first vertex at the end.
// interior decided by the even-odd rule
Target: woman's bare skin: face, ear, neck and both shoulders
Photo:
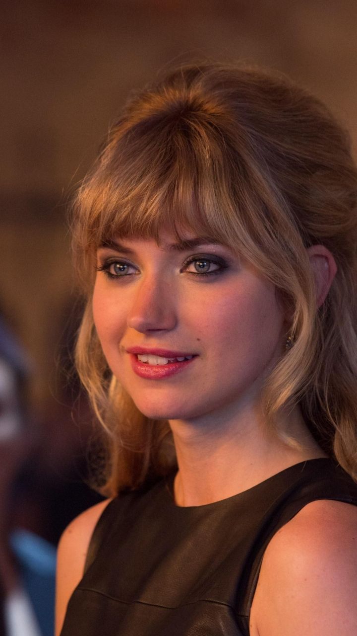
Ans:
{"type": "MultiPolygon", "coordinates": [[[[161,238],[160,245],[131,239],[121,241],[123,249],[111,244],[98,250],[93,315],[109,366],[139,410],[148,417],[170,421],[179,463],[177,505],[219,501],[292,464],[323,457],[298,408],[283,413],[280,424],[300,441],[299,450],[269,432],[262,416],[262,384],[283,354],[288,333],[288,316],[273,285],[222,245],[173,251],[169,249],[173,238],[161,238]],[[208,271],[218,273],[194,275],[203,254],[206,263],[210,261],[208,271]],[[191,256],[196,261],[187,264],[191,256]],[[227,267],[221,269],[222,263],[227,267]],[[134,345],[180,350],[197,357],[182,373],[148,380],[131,368],[126,349],[134,345]]],[[[320,305],[336,265],[322,245],[311,247],[308,256],[320,305]]],[[[83,513],[62,537],[57,634],[69,595],[81,579],[91,532],[105,505],[83,513]]],[[[346,612],[347,587],[356,591],[357,564],[351,561],[356,527],[353,506],[313,502],[273,537],[253,602],[252,636],[352,633],[357,614],[353,616],[351,605],[345,631],[341,631],[341,619],[346,612]],[[331,525],[336,530],[325,532],[331,525]],[[341,549],[340,537],[346,549],[341,549]],[[325,570],[331,554],[335,583],[327,594],[325,570]],[[299,567],[289,577],[286,563],[292,558],[299,567]],[[327,632],[322,617],[332,598],[335,612],[327,632]]]]}

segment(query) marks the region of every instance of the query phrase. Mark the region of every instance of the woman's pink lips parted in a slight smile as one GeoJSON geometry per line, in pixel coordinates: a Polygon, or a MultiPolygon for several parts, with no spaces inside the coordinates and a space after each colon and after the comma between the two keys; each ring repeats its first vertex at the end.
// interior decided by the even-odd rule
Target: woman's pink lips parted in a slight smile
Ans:
{"type": "Polygon", "coordinates": [[[183,371],[189,364],[191,364],[197,357],[195,354],[185,354],[180,351],[170,351],[168,349],[144,349],[144,347],[128,347],[126,349],[130,354],[131,368],[140,376],[140,378],[147,378],[149,380],[161,380],[161,378],[168,378],[170,375],[183,371]],[[149,364],[140,362],[138,355],[151,355],[161,357],[184,357],[194,356],[191,360],[183,360],[182,362],[169,362],[167,364],[149,364]]]}

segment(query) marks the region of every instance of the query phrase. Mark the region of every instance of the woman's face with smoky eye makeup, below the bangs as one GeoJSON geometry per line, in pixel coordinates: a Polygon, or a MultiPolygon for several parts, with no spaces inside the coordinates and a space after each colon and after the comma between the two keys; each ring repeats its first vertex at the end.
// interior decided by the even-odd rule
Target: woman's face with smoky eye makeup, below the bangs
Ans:
{"type": "Polygon", "coordinates": [[[144,415],[224,418],[257,401],[286,327],[273,284],[252,266],[223,245],[165,235],[160,246],[114,239],[97,267],[102,349],[144,415]]]}

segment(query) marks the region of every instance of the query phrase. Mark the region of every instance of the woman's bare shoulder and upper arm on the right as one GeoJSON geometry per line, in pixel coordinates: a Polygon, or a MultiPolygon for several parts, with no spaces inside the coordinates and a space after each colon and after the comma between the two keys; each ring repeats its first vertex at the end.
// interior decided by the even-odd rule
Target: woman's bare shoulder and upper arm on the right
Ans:
{"type": "Polygon", "coordinates": [[[357,506],[314,501],[271,539],[252,605],[252,636],[357,633],[357,506]]]}

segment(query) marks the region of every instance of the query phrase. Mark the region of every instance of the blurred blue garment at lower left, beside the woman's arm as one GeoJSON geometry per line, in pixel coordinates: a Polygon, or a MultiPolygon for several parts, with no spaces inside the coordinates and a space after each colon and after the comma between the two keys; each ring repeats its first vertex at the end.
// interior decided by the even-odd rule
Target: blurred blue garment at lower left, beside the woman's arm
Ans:
{"type": "Polygon", "coordinates": [[[11,532],[11,548],[42,636],[53,636],[55,625],[56,548],[28,530],[11,532]]]}

